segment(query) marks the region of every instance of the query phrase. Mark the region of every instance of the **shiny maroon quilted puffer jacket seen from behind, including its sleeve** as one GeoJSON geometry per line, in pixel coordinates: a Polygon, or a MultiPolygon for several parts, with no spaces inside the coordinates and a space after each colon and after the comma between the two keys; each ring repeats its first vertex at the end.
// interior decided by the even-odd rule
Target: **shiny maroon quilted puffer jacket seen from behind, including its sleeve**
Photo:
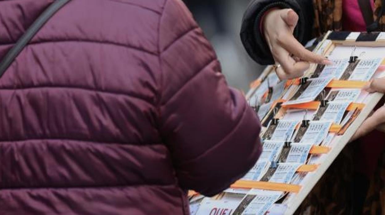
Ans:
{"type": "MultiPolygon", "coordinates": [[[[52,1],[0,1],[0,58],[52,1]]],[[[72,0],[0,79],[0,214],[188,214],[261,152],[220,70],[180,0],[72,0]]]]}

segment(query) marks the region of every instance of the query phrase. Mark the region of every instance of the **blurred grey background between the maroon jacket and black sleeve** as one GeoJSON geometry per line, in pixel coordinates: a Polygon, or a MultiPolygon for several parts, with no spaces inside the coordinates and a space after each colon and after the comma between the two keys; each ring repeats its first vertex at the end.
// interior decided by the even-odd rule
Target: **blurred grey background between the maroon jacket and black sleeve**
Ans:
{"type": "Polygon", "coordinates": [[[183,1],[213,44],[229,85],[247,92],[263,70],[248,56],[239,37],[249,0],[183,1]]]}

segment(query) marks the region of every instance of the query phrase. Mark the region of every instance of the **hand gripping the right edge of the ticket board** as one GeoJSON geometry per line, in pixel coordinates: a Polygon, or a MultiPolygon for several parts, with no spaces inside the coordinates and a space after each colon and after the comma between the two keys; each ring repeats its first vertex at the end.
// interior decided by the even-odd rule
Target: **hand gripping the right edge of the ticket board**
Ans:
{"type": "MultiPolygon", "coordinates": [[[[373,79],[364,90],[373,93],[381,92],[385,93],[385,79],[375,78],[373,79]]],[[[353,135],[352,140],[356,140],[373,130],[380,130],[385,132],[385,106],[378,108],[370,117],[368,117],[358,128],[357,132],[353,135]]]]}

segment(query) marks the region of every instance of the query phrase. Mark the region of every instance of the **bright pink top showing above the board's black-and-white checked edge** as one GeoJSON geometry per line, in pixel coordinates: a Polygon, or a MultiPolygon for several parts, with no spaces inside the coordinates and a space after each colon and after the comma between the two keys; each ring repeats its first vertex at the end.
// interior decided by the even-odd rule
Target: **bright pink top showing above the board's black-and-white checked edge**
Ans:
{"type": "MultiPolygon", "coordinates": [[[[372,9],[374,9],[374,1],[370,1],[372,9]]],[[[365,32],[366,24],[363,18],[358,0],[342,1],[342,28],[345,31],[365,32]]]]}

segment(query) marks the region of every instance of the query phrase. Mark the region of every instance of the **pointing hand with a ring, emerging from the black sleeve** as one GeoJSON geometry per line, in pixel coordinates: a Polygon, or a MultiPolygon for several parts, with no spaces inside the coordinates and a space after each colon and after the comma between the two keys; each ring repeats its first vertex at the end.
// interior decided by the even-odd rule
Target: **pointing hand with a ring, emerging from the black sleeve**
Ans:
{"type": "Polygon", "coordinates": [[[293,36],[298,15],[292,9],[272,9],[263,20],[263,31],[281,80],[301,77],[310,63],[330,64],[325,57],[310,52],[293,36]]]}

